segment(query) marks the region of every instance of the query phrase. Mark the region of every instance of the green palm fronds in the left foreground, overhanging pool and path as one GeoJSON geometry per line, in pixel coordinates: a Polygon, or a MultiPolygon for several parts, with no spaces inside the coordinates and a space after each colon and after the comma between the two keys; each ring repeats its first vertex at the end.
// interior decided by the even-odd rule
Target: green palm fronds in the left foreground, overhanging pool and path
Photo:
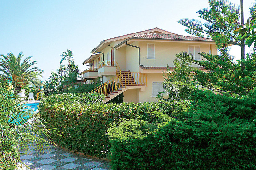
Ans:
{"type": "MultiPolygon", "coordinates": [[[[24,110],[21,101],[7,87],[6,82],[0,83],[0,169],[14,170],[20,166],[19,162],[24,165],[20,159],[20,151],[28,154],[29,146],[34,143],[37,150],[42,152],[44,146],[48,147],[43,135],[49,138],[50,132],[56,131],[46,128],[38,115],[24,110]],[[32,118],[36,121],[27,122],[32,118]]],[[[52,143],[51,139],[50,142],[52,143]]]]}

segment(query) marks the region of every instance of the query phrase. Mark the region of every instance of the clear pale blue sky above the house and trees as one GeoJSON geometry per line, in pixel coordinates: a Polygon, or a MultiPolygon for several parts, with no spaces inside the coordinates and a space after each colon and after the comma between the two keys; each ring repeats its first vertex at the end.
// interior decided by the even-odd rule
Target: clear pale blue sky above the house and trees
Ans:
{"type": "MultiPolygon", "coordinates": [[[[244,20],[252,2],[244,0],[244,20]]],[[[60,54],[67,49],[84,70],[82,62],[102,40],[155,27],[189,35],[177,21],[198,18],[196,11],[208,6],[207,0],[1,0],[0,54],[23,51],[33,56],[45,80],[57,70],[60,54]]],[[[230,52],[239,59],[240,48],[232,47],[230,52]]]]}

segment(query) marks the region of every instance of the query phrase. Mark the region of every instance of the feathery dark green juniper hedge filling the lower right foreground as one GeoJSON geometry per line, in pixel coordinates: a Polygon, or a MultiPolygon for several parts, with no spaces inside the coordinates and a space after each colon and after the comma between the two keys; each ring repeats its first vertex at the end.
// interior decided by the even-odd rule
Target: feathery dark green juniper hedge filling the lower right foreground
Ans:
{"type": "Polygon", "coordinates": [[[176,118],[155,112],[156,124],[131,119],[112,125],[112,168],[255,169],[256,99],[198,92],[200,100],[176,118]]]}

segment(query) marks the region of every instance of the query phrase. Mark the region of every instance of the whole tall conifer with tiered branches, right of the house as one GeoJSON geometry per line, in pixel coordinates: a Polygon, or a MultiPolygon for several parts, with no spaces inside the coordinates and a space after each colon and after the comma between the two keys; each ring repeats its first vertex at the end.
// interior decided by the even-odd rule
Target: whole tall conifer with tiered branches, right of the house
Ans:
{"type": "MultiPolygon", "coordinates": [[[[200,37],[207,34],[208,38],[215,41],[220,55],[199,53],[207,59],[206,61],[194,60],[193,56],[186,52],[181,52],[176,57],[208,70],[194,70],[193,79],[198,84],[228,93],[249,94],[256,87],[256,54],[255,51],[247,53],[247,58],[244,59],[245,44],[243,39],[241,41],[243,33],[235,31],[244,27],[243,23],[239,22],[239,6],[226,0],[209,0],[209,5],[209,8],[197,12],[199,17],[207,22],[201,23],[195,19],[181,19],[178,22],[187,26],[185,31],[190,34],[200,37]],[[234,57],[229,55],[229,44],[241,47],[241,60],[235,62],[234,57]]],[[[250,8],[252,17],[256,13],[254,9],[255,4],[250,8]]]]}

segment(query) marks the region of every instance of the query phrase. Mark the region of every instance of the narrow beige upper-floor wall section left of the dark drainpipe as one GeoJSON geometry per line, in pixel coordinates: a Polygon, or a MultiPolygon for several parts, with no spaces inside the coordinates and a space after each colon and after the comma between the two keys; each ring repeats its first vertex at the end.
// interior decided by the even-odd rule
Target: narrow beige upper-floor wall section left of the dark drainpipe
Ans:
{"type": "MultiPolygon", "coordinates": [[[[138,46],[139,42],[132,43],[134,46],[138,46]]],[[[131,72],[139,72],[139,51],[138,48],[126,46],[126,70],[131,72]]]]}

